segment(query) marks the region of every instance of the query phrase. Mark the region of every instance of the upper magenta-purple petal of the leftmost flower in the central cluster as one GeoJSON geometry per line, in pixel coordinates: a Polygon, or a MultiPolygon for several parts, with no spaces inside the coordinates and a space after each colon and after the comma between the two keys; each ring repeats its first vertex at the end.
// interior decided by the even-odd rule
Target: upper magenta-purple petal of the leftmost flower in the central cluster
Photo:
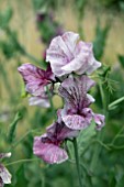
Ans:
{"type": "Polygon", "coordinates": [[[34,96],[41,96],[44,94],[44,86],[48,85],[53,77],[50,67],[43,70],[32,64],[23,64],[18,68],[25,81],[25,89],[27,92],[34,96]]]}

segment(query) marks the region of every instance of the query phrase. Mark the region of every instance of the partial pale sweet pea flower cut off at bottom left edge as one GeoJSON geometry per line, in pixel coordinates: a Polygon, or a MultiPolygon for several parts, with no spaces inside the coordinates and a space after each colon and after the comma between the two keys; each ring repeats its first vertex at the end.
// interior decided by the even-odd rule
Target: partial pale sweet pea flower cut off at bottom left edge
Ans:
{"type": "MultiPolygon", "coordinates": [[[[0,153],[0,160],[10,156],[11,153],[0,153]]],[[[0,164],[0,187],[3,187],[4,184],[11,184],[11,174],[2,164],[0,164]]]]}

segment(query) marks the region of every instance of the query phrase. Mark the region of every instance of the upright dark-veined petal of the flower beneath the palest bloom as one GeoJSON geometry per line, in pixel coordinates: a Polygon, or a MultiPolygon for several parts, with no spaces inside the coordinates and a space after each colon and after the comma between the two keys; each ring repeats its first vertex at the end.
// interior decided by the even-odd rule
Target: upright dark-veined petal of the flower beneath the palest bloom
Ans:
{"type": "Polygon", "coordinates": [[[82,108],[89,107],[93,100],[91,100],[91,97],[89,98],[87,92],[94,84],[95,82],[87,76],[78,78],[69,77],[65,79],[58,89],[59,95],[65,99],[67,105],[66,105],[65,108],[67,108],[67,110],[71,109],[74,112],[77,109],[82,110],[82,108]]]}

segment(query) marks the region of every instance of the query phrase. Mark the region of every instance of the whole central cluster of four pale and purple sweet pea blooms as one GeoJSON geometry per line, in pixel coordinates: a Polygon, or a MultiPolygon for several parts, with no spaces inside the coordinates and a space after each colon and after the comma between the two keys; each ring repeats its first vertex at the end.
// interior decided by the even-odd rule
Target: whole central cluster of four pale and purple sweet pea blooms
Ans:
{"type": "Polygon", "coordinates": [[[104,125],[104,116],[89,108],[94,98],[88,94],[95,85],[88,75],[101,63],[93,56],[92,44],[78,40],[79,35],[74,32],[56,36],[46,51],[46,62],[49,63],[46,70],[31,64],[19,67],[25,90],[31,95],[30,105],[50,107],[47,88],[52,95],[59,82],[58,95],[64,98],[64,108],[58,109],[57,120],[46,129],[45,134],[34,139],[33,145],[34,154],[49,164],[68,160],[65,141],[77,138],[92,120],[97,130],[104,125]]]}

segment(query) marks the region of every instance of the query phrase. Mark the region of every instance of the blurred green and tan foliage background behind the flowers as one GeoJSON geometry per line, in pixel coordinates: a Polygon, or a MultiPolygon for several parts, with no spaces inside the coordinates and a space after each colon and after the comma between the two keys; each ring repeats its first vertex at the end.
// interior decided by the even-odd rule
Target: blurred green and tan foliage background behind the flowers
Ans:
{"type": "MultiPolygon", "coordinates": [[[[33,138],[54,118],[52,109],[29,107],[18,73],[23,63],[45,67],[45,50],[64,31],[93,42],[95,58],[103,63],[92,108],[105,112],[108,121],[103,131],[95,133],[91,127],[80,135],[83,187],[124,186],[123,99],[109,110],[111,102],[124,97],[123,23],[123,0],[0,0],[0,152],[12,152],[4,161],[13,176],[8,186],[78,187],[75,164],[48,166],[33,155],[33,138]]],[[[55,109],[63,106],[57,96],[53,102],[55,109]]]]}

